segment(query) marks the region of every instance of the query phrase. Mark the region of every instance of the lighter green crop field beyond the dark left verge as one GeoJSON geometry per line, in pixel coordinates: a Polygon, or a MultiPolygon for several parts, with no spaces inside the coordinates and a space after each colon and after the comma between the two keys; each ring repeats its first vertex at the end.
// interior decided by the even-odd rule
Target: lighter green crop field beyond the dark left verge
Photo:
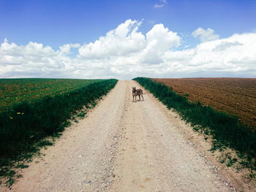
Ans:
{"type": "Polygon", "coordinates": [[[34,102],[43,96],[55,96],[102,80],[0,79],[0,112],[20,102],[34,102]]]}

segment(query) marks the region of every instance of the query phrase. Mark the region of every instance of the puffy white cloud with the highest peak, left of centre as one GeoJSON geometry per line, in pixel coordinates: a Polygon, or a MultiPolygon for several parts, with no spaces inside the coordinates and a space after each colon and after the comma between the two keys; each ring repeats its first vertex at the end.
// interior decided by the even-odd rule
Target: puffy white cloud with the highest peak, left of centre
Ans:
{"type": "Polygon", "coordinates": [[[145,47],[145,37],[138,32],[141,22],[126,20],[105,37],[83,45],[79,49],[80,58],[105,58],[136,53],[145,47]]]}

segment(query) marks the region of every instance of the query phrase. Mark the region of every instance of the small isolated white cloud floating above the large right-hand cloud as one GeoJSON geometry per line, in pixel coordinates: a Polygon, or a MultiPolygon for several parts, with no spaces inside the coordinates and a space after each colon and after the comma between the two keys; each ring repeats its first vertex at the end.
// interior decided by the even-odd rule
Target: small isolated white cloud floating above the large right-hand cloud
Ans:
{"type": "Polygon", "coordinates": [[[211,28],[207,28],[206,30],[203,28],[197,28],[192,32],[193,37],[199,37],[201,42],[208,42],[215,39],[219,39],[218,34],[214,34],[214,30],[211,28]]]}

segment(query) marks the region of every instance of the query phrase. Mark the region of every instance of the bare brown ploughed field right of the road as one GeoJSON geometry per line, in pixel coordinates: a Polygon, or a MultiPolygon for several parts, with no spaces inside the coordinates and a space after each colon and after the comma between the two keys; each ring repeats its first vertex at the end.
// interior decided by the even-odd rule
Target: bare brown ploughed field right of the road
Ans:
{"type": "Polygon", "coordinates": [[[173,88],[189,101],[236,115],[256,130],[256,78],[153,79],[173,88]]]}

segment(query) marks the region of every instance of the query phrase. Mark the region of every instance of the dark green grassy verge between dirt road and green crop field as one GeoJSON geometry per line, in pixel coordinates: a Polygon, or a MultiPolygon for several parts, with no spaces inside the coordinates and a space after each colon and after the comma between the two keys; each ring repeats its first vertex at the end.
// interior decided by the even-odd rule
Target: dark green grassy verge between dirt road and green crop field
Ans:
{"type": "MultiPolygon", "coordinates": [[[[11,110],[0,113],[0,177],[15,175],[15,162],[25,161],[38,147],[52,145],[45,137],[58,136],[69,119],[83,107],[95,106],[114,86],[117,80],[94,82],[75,91],[56,96],[44,96],[34,103],[15,104],[11,110]]],[[[80,112],[78,117],[83,116],[80,112]]],[[[23,167],[23,164],[18,164],[23,167]]],[[[12,184],[13,180],[9,180],[12,184]]]]}

